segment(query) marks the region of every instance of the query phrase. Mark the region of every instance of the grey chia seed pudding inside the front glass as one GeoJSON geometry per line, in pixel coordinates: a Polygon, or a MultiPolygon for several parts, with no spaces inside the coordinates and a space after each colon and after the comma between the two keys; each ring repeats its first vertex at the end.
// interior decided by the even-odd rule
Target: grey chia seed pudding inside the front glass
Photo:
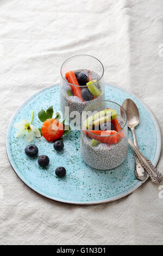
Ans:
{"type": "MultiPolygon", "coordinates": [[[[118,115],[117,121],[121,127],[124,126],[123,119],[118,115]]],[[[80,135],[80,154],[82,159],[93,168],[100,170],[116,168],[127,157],[128,140],[124,133],[116,144],[99,143],[96,147],[92,147],[91,142],[92,139],[82,131],[80,135]]]]}

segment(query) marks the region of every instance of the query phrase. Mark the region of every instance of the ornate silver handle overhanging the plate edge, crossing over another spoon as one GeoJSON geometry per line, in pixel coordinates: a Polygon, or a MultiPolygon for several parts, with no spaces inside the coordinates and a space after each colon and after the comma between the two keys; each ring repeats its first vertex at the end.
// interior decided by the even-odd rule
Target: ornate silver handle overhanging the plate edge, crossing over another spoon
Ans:
{"type": "Polygon", "coordinates": [[[147,157],[145,157],[140,152],[140,150],[135,147],[135,145],[133,144],[133,142],[130,141],[130,139],[128,139],[128,143],[130,144],[131,148],[134,149],[135,154],[139,158],[141,166],[147,171],[152,182],[158,184],[161,183],[163,181],[163,175],[160,172],[158,172],[158,170],[156,170],[151,161],[149,161],[149,159],[147,159],[147,157]]]}

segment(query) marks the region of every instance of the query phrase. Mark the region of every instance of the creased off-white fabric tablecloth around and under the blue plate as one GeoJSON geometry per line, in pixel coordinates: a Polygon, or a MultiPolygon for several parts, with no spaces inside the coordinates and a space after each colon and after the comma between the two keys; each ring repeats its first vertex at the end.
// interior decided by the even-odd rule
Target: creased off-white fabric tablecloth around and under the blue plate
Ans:
{"type": "Polygon", "coordinates": [[[5,154],[12,114],[79,53],[99,58],[105,80],[139,96],[162,129],[162,14],[161,0],[0,1],[1,244],[162,244],[163,198],[151,181],[110,204],[67,205],[30,190],[5,154]]]}

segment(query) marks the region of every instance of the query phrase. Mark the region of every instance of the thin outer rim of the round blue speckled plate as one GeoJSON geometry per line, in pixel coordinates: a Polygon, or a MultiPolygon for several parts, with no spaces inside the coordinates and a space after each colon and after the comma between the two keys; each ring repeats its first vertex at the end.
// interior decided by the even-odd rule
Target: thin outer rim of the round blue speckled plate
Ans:
{"type": "MultiPolygon", "coordinates": [[[[54,87],[54,86],[59,86],[59,81],[53,83],[51,86],[46,86],[46,87],[43,87],[42,89],[40,90],[37,90],[37,92],[35,92],[33,95],[29,96],[25,101],[23,101],[23,103],[16,109],[16,111],[14,112],[14,114],[12,115],[11,119],[10,119],[10,122],[9,122],[9,125],[8,125],[8,129],[7,129],[7,133],[6,133],[6,139],[5,139],[5,147],[6,147],[6,151],[7,151],[7,156],[8,156],[8,160],[11,164],[11,161],[10,161],[10,157],[9,157],[9,154],[8,154],[8,135],[9,135],[9,131],[12,127],[12,123],[14,121],[14,118],[16,117],[16,115],[18,114],[18,112],[20,111],[20,109],[22,109],[22,107],[24,105],[26,105],[26,103],[33,98],[33,96],[36,96],[37,94],[41,93],[43,90],[45,89],[49,89],[51,87],[54,87]]],[[[159,138],[159,140],[157,141],[157,149],[158,149],[158,155],[156,156],[156,159],[155,159],[155,163],[154,164],[154,167],[156,166],[156,164],[158,163],[159,161],[159,158],[160,158],[160,153],[161,153],[161,131],[160,131],[160,126],[158,124],[158,121],[156,120],[154,114],[152,113],[151,109],[146,105],[146,103],[143,102],[143,100],[141,100],[138,96],[136,96],[134,93],[130,92],[130,90],[126,90],[126,89],[123,89],[121,88],[120,86],[117,86],[115,83],[108,83],[108,82],[105,82],[105,86],[110,86],[110,87],[115,87],[115,88],[118,88],[120,89],[122,92],[126,92],[127,94],[130,94],[131,96],[135,97],[137,101],[139,101],[146,109],[147,111],[151,114],[152,116],[152,119],[154,121],[154,124],[155,124],[155,128],[156,128],[156,133],[158,133],[158,136],[157,138],[159,138]]],[[[64,199],[57,199],[55,197],[50,197],[50,196],[47,196],[46,194],[43,194],[37,190],[35,190],[32,186],[28,185],[26,183],[26,181],[24,181],[17,173],[16,169],[12,166],[11,164],[11,167],[12,169],[14,170],[14,172],[16,173],[16,175],[18,176],[18,178],[20,178],[24,184],[26,184],[29,188],[31,188],[33,191],[35,191],[36,193],[40,194],[41,196],[43,197],[46,197],[48,199],[51,199],[51,200],[55,200],[57,202],[61,202],[61,203],[66,203],[66,204],[72,204],[72,205],[97,205],[97,204],[103,204],[103,203],[110,203],[110,202],[114,202],[116,200],[119,200],[123,197],[126,197],[128,196],[129,194],[135,192],[137,190],[137,188],[139,188],[143,183],[145,183],[148,179],[146,180],[143,180],[143,181],[140,181],[139,184],[137,184],[136,186],[134,186],[133,189],[129,190],[128,192],[126,193],[123,193],[121,194],[120,196],[115,196],[111,199],[102,199],[102,200],[93,200],[93,201],[86,201],[86,202],[76,202],[76,201],[67,201],[67,200],[64,200],[64,199]]]]}

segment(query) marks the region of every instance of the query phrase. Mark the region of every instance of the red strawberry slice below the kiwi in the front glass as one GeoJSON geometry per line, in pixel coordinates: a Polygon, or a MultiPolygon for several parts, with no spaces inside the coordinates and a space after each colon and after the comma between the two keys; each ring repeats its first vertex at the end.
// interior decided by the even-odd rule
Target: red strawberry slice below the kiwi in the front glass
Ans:
{"type": "Polygon", "coordinates": [[[115,144],[119,141],[120,135],[116,131],[95,131],[95,130],[89,130],[85,131],[86,135],[92,139],[96,139],[97,141],[107,143],[107,144],[115,144]],[[90,132],[91,133],[90,133],[90,132]],[[93,133],[93,134],[92,134],[93,133]],[[100,137],[100,136],[106,136],[106,137],[100,137]],[[110,136],[111,135],[111,136],[110,136]]]}

